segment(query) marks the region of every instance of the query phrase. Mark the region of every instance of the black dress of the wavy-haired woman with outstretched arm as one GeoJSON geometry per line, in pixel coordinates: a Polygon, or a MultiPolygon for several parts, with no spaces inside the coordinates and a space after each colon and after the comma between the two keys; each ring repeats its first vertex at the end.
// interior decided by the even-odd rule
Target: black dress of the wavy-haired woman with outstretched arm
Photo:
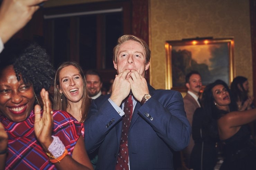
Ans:
{"type": "Polygon", "coordinates": [[[224,162],[220,170],[256,170],[256,147],[250,138],[248,125],[243,125],[232,137],[223,140],[224,162]]]}

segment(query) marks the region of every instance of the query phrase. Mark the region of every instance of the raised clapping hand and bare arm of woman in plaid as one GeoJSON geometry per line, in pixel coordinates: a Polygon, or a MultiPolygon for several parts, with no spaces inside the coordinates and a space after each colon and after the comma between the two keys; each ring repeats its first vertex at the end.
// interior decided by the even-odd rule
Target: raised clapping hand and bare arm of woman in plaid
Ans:
{"type": "MultiPolygon", "coordinates": [[[[44,150],[48,153],[51,153],[53,156],[54,153],[49,148],[52,144],[53,137],[52,137],[52,127],[53,127],[53,116],[52,116],[52,106],[49,100],[48,92],[45,89],[41,91],[41,97],[43,100],[43,115],[40,115],[40,108],[38,105],[35,106],[35,135],[44,148],[44,150]]],[[[61,144],[62,141],[57,142],[61,144]]],[[[53,148],[54,149],[54,148],[53,148]]],[[[92,170],[92,164],[88,158],[84,147],[83,138],[77,140],[75,148],[73,150],[72,157],[67,155],[67,153],[63,153],[60,157],[56,160],[60,160],[60,162],[54,163],[54,165],[58,169],[83,169],[83,170],[92,170]],[[64,156],[63,159],[61,159],[64,156]]],[[[54,159],[55,160],[55,159],[54,159]]]]}

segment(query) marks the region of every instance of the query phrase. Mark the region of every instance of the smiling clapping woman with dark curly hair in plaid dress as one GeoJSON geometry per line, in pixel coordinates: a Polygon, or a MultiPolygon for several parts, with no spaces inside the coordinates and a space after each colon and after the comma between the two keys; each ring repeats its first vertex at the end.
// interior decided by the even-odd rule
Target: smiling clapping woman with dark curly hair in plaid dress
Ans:
{"type": "Polygon", "coordinates": [[[8,147],[0,139],[0,162],[5,169],[93,169],[81,137],[83,124],[51,108],[45,89],[54,72],[47,54],[38,45],[20,46],[1,53],[0,137],[8,135],[8,147]],[[42,110],[35,106],[39,92],[42,110]]]}

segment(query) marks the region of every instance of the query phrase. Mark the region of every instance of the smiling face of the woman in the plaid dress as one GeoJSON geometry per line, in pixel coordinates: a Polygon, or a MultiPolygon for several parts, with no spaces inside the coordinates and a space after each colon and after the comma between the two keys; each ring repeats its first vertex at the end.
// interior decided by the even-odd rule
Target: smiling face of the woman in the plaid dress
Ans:
{"type": "Polygon", "coordinates": [[[24,83],[20,76],[17,80],[13,65],[2,70],[0,77],[0,110],[10,120],[15,122],[24,121],[33,109],[35,95],[31,84],[24,83]],[[17,92],[15,90],[17,89],[17,92]],[[15,94],[12,96],[12,91],[15,94]]]}

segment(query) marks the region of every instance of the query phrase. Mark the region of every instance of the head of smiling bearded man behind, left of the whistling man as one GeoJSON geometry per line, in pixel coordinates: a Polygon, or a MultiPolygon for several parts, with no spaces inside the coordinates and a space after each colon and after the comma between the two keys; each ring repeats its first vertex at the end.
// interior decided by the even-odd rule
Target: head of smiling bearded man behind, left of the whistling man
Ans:
{"type": "Polygon", "coordinates": [[[91,99],[96,99],[102,96],[101,87],[102,81],[101,76],[96,70],[88,70],[85,73],[88,95],[91,99]]]}

